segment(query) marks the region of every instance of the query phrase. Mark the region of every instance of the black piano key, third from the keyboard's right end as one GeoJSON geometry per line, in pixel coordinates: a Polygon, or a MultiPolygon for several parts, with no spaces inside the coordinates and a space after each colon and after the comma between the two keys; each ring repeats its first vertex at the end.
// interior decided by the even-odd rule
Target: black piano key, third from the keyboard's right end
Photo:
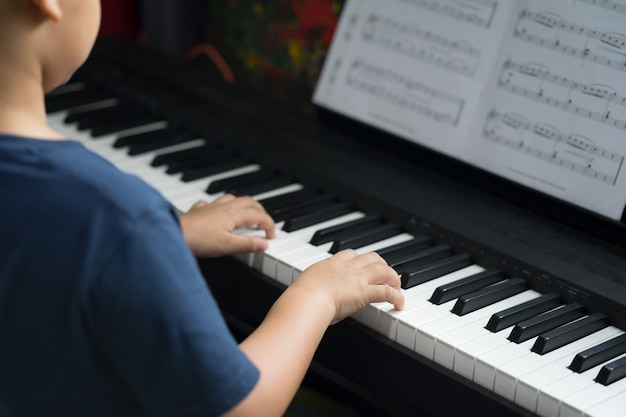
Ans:
{"type": "Polygon", "coordinates": [[[608,325],[607,318],[604,314],[592,314],[583,319],[540,334],[530,350],[544,355],[568,343],[588,336],[608,325]]]}

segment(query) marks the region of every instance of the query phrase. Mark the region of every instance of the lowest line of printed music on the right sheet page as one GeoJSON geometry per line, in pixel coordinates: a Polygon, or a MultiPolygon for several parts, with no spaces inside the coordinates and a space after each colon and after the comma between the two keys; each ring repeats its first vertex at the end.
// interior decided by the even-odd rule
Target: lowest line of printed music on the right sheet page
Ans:
{"type": "Polygon", "coordinates": [[[492,110],[485,123],[484,136],[609,185],[615,185],[624,163],[623,155],[599,148],[585,136],[563,134],[554,126],[533,124],[514,113],[492,110]]]}

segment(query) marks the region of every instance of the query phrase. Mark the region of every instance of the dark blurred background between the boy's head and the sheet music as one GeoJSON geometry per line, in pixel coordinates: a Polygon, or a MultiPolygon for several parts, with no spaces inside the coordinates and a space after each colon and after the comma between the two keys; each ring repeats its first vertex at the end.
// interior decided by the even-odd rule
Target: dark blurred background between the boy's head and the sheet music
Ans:
{"type": "Polygon", "coordinates": [[[101,36],[198,61],[309,112],[344,0],[102,0],[101,36]]]}

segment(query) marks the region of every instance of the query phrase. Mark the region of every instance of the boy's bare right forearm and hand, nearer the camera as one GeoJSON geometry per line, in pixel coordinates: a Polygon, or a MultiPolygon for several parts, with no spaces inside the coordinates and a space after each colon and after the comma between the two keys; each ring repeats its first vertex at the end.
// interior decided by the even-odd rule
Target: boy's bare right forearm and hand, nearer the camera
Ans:
{"type": "Polygon", "coordinates": [[[226,417],[282,416],[327,327],[371,302],[403,308],[400,280],[376,254],[346,250],[303,272],[240,347],[261,372],[226,417]]]}

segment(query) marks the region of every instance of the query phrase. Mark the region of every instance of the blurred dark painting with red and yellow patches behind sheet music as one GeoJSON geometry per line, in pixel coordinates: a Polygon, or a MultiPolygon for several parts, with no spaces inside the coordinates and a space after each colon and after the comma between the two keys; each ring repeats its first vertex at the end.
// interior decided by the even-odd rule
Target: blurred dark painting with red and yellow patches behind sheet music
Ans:
{"type": "Polygon", "coordinates": [[[343,2],[210,1],[205,48],[227,81],[309,111],[343,2]]]}

